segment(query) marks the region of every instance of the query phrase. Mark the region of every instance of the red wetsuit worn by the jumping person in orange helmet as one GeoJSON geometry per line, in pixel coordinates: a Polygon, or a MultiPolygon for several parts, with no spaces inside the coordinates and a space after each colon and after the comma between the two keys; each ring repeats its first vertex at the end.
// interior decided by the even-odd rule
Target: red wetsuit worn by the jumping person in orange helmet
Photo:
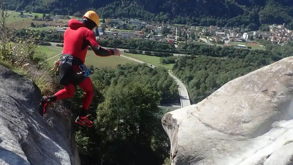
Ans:
{"type": "MultiPolygon", "coordinates": [[[[63,54],[70,54],[80,60],[85,61],[88,47],[91,47],[97,56],[111,56],[114,52],[110,49],[104,49],[99,46],[93,31],[88,29],[84,23],[76,19],[69,20],[69,28],[64,33],[63,54]]],[[[72,65],[74,70],[80,71],[79,66],[72,65]]],[[[86,78],[80,85],[84,91],[82,107],[88,110],[93,99],[93,84],[91,79],[86,78]]],[[[64,89],[54,95],[57,100],[68,99],[74,96],[74,85],[64,86],[64,89]]]]}

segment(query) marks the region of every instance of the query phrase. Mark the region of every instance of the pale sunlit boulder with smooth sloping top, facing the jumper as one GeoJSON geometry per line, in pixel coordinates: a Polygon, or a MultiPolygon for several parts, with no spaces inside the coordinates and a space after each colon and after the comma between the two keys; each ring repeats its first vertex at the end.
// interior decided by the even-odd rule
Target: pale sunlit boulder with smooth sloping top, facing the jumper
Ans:
{"type": "Polygon", "coordinates": [[[165,114],[172,165],[293,163],[293,57],[165,114]]]}

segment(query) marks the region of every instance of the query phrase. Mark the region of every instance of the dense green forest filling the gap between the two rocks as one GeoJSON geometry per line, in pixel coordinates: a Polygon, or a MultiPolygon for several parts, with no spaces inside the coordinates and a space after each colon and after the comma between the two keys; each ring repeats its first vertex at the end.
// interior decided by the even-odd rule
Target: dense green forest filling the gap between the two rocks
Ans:
{"type": "MultiPolygon", "coordinates": [[[[161,126],[166,111],[158,105],[179,98],[166,70],[127,64],[96,68],[91,79],[96,91],[90,107],[95,128],[83,127],[76,134],[82,164],[163,164],[170,146],[161,126]],[[151,159],[142,161],[146,157],[151,159]]],[[[70,99],[73,112],[83,96],[78,87],[70,99]]]]}

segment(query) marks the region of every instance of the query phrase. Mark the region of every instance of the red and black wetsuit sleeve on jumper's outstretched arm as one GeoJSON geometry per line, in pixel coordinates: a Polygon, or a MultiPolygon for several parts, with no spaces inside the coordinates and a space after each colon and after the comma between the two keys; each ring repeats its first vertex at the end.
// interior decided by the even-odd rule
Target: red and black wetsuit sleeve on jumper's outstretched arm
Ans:
{"type": "Polygon", "coordinates": [[[113,50],[100,47],[93,31],[88,32],[86,40],[88,40],[90,47],[93,49],[97,56],[107,57],[112,56],[114,54],[113,50]]]}

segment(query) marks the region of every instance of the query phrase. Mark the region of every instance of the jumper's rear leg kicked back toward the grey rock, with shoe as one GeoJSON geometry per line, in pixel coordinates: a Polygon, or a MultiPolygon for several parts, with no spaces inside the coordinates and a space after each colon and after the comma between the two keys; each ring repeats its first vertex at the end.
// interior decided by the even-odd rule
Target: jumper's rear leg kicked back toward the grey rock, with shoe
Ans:
{"type": "Polygon", "coordinates": [[[68,99],[74,96],[74,86],[67,85],[64,86],[64,89],[59,90],[52,96],[43,96],[39,105],[39,112],[42,116],[45,115],[46,109],[50,104],[53,104],[54,101],[61,99],[68,99]]]}

